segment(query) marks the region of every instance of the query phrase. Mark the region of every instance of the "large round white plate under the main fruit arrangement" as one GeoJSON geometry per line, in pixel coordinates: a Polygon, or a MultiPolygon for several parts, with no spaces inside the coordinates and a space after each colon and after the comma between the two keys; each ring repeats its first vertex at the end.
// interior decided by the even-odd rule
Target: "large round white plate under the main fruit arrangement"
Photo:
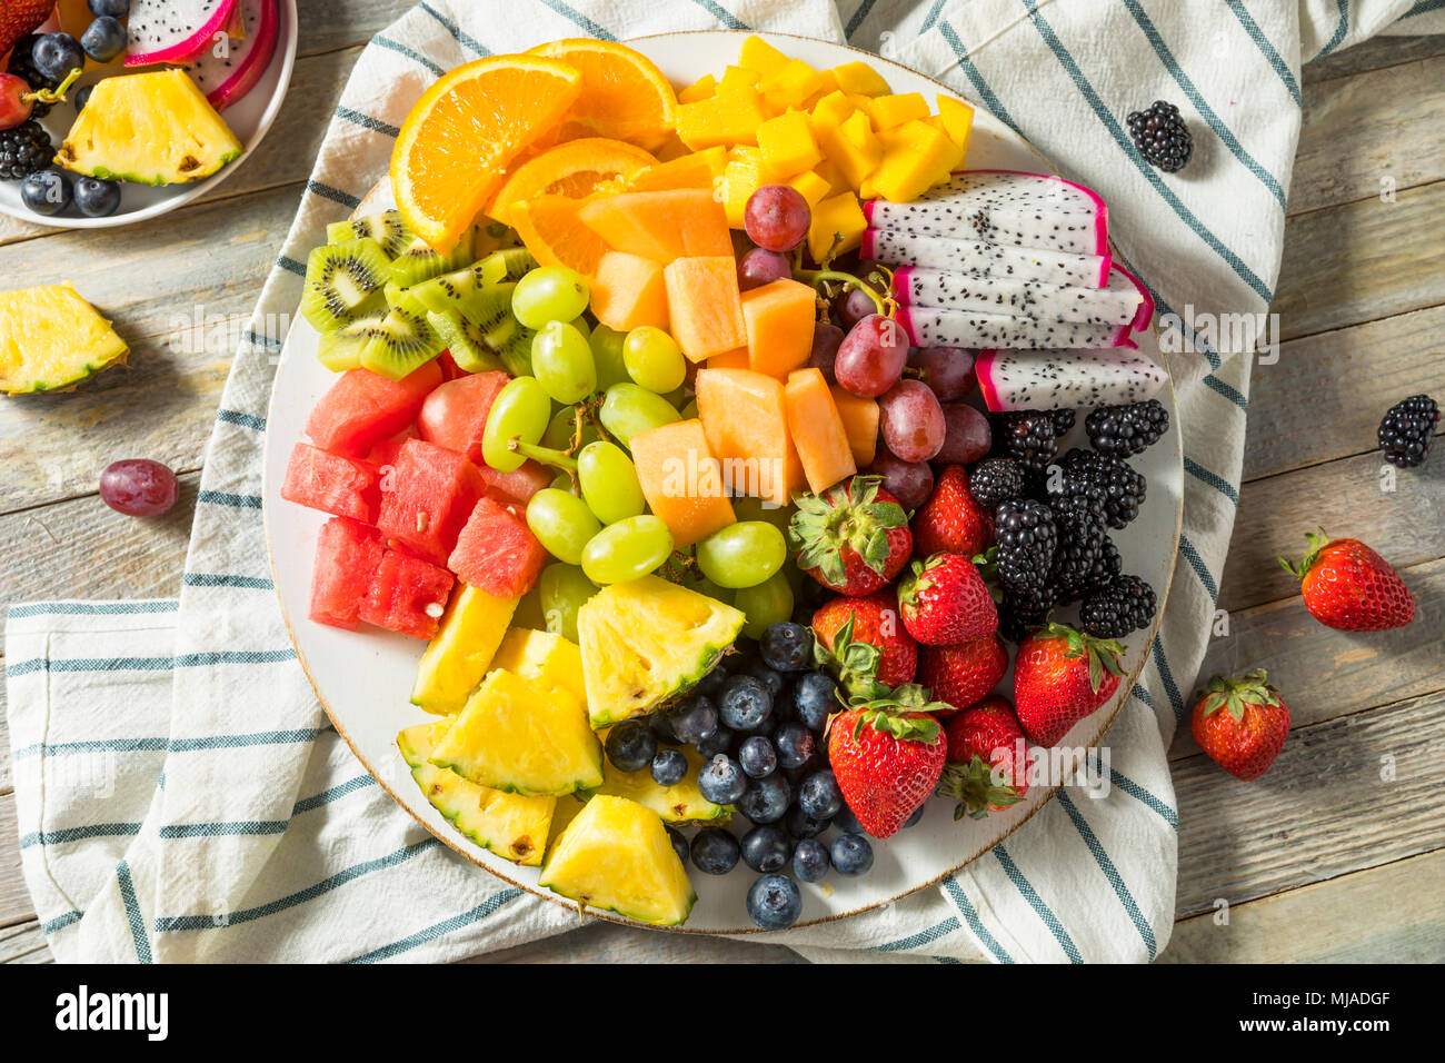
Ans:
{"type": "MultiPolygon", "coordinates": [[[[675,82],[689,84],[704,71],[721,72],[725,65],[736,61],[744,36],[731,32],[669,33],[630,43],[652,56],[675,82]]],[[[854,49],[821,40],[777,33],[763,36],[789,55],[818,67],[837,65],[861,55],[854,49]]],[[[874,55],[866,58],[889,78],[894,91],[920,91],[931,98],[933,93],[948,91],[903,67],[874,55]]],[[[968,165],[977,169],[1049,169],[1033,149],[981,107],[974,121],[968,165]]],[[[367,208],[371,205],[367,204],[367,208]]],[[[1150,331],[1140,334],[1139,338],[1142,350],[1162,362],[1155,334],[1150,331]]],[[[403,635],[374,629],[345,632],[306,619],[316,529],[328,518],[282,502],[279,489],[292,447],[303,437],[311,408],[334,380],[334,375],[316,362],[316,333],[298,318],[282,353],[267,415],[264,498],[272,571],[302,667],[337,730],[377,781],[428,830],[499,878],[571,907],[569,901],[538,887],[535,868],[519,868],[470,842],[426,803],[412,781],[397,754],[396,733],[409,725],[435,719],[409,701],[422,644],[403,635]]],[[[1165,389],[1160,401],[1169,408],[1170,418],[1178,419],[1172,389],[1165,389]]],[[[1082,441],[1081,418],[1068,445],[1078,445],[1082,441]]],[[[1147,500],[1140,516],[1123,532],[1116,532],[1116,541],[1124,557],[1126,570],[1142,576],[1159,590],[1162,615],[1173,574],[1182,516],[1183,469],[1178,428],[1170,430],[1162,443],[1134,458],[1133,464],[1149,477],[1147,500]]],[[[1127,680],[1120,686],[1114,700],[1078,723],[1062,745],[1078,748],[1098,745],[1129,696],[1144,664],[1152,638],[1153,631],[1136,632],[1124,639],[1129,649],[1127,680]]],[[[1006,678],[1001,690],[1007,691],[1009,687],[1010,680],[1006,678]]],[[[799,924],[867,911],[936,882],[1003,840],[1036,813],[1056,790],[1053,785],[1033,788],[1025,801],[1006,813],[993,813],[984,820],[962,823],[955,823],[952,819],[952,801],[929,801],[928,811],[918,826],[874,843],[876,862],[868,875],[850,879],[829,874],[825,885],[801,884],[803,913],[799,924]]],[[[746,829],[746,819],[738,816],[736,820],[746,829]]],[[[828,837],[831,836],[832,832],[828,837]]],[[[721,878],[702,875],[696,869],[691,869],[689,875],[698,891],[698,904],[686,926],[678,930],[728,934],[757,931],[744,907],[744,895],[754,878],[747,868],[740,865],[731,875],[721,878]]],[[[594,914],[613,921],[630,921],[610,913],[594,914]]]]}

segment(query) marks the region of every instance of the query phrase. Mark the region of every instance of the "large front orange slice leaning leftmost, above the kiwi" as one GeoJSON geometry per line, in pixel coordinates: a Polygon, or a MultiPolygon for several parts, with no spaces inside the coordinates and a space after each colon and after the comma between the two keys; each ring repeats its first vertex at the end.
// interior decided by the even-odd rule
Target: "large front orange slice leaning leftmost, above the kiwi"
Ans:
{"type": "Polygon", "coordinates": [[[535,55],[488,56],[441,77],[406,116],[392,152],[392,191],[410,230],[451,252],[506,165],[581,93],[581,71],[535,55]]]}

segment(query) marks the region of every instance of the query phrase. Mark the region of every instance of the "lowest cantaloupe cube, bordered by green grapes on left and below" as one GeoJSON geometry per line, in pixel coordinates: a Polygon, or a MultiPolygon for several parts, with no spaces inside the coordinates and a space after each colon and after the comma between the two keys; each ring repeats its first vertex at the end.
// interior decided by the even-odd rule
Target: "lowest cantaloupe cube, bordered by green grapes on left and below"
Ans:
{"type": "Polygon", "coordinates": [[[722,482],[722,463],[701,421],[678,421],[629,440],[637,480],[652,512],[682,550],[737,521],[722,482]]]}

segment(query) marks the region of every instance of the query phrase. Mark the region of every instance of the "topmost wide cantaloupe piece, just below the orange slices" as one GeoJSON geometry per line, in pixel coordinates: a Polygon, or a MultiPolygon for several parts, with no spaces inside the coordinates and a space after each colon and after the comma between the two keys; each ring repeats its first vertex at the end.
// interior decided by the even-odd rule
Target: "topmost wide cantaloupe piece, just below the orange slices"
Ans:
{"type": "Polygon", "coordinates": [[[613,250],[663,265],[683,256],[733,253],[727,214],[705,188],[605,195],[584,205],[578,217],[613,250]]]}

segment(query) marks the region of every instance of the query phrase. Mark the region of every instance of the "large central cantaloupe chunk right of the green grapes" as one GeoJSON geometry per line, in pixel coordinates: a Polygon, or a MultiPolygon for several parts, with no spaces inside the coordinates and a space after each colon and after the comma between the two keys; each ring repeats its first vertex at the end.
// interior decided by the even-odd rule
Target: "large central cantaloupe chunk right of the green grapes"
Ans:
{"type": "Polygon", "coordinates": [[[702,431],[733,493],[788,505],[808,479],[788,435],[782,380],[751,369],[702,369],[696,388],[702,431]]]}

